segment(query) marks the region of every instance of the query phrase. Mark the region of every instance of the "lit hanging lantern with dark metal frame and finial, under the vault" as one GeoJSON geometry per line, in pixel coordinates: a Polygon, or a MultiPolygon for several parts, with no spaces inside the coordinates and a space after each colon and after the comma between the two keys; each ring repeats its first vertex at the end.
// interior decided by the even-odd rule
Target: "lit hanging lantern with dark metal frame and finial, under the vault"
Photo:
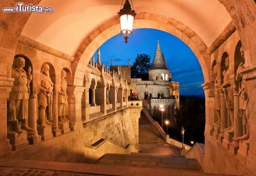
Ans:
{"type": "MultiPolygon", "coordinates": [[[[121,7],[122,7],[122,4],[121,4],[121,7]]],[[[126,2],[124,3],[123,9],[120,9],[120,11],[117,13],[120,19],[121,34],[124,35],[125,42],[127,43],[129,34],[132,34],[133,20],[136,16],[136,13],[134,11],[134,8],[132,10],[129,0],[126,0],[126,2]]]]}

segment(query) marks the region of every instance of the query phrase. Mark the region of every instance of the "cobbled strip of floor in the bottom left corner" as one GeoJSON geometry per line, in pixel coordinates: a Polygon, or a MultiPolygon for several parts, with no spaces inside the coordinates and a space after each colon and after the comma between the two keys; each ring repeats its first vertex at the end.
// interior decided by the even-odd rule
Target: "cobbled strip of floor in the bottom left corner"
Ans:
{"type": "MultiPolygon", "coordinates": [[[[62,172],[54,170],[30,169],[21,167],[0,167],[0,176],[96,176],[75,172],[62,172]]],[[[97,175],[99,176],[99,175],[97,175]]]]}

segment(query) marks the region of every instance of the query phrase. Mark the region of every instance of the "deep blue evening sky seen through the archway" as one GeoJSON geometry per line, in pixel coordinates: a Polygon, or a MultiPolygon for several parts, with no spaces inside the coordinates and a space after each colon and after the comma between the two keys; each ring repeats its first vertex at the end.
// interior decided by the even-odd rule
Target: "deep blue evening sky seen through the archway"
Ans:
{"type": "MultiPolygon", "coordinates": [[[[113,65],[133,64],[137,54],[148,54],[153,62],[155,49],[159,40],[166,64],[172,74],[172,81],[180,82],[180,95],[204,96],[203,72],[193,51],[180,39],[167,32],[157,29],[134,29],[128,43],[123,35],[117,34],[100,46],[101,64],[113,65]]],[[[93,55],[97,61],[97,51],[93,55]]]]}

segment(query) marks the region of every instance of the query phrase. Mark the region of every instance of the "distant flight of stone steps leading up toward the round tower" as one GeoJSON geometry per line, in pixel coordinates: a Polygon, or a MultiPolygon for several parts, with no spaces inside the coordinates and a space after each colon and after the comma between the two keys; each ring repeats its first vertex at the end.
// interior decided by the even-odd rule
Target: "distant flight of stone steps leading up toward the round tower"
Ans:
{"type": "Polygon", "coordinates": [[[151,125],[144,112],[141,111],[139,118],[139,144],[149,143],[165,143],[165,141],[156,127],[151,125]]]}

